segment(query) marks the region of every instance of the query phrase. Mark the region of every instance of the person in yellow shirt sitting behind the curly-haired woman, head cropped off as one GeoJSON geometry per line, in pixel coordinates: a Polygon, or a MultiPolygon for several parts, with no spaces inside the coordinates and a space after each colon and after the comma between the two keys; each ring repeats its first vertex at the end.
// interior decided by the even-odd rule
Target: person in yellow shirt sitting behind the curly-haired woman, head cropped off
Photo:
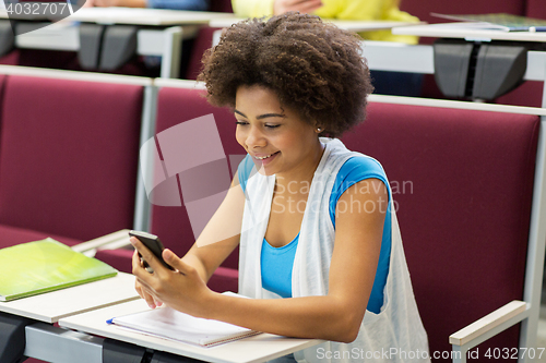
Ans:
{"type": "MultiPolygon", "coordinates": [[[[418,22],[401,11],[400,0],[232,0],[234,12],[240,17],[261,17],[288,11],[314,14],[322,19],[351,21],[418,22]]],[[[394,35],[390,29],[359,33],[364,39],[397,41],[415,45],[418,38],[394,35]]],[[[371,71],[375,93],[381,95],[419,96],[423,74],[371,71]]]]}

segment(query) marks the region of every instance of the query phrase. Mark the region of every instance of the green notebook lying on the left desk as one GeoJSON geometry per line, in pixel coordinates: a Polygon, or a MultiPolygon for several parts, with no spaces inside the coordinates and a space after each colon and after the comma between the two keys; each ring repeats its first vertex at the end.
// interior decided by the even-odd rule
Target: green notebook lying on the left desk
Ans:
{"type": "Polygon", "coordinates": [[[0,301],[60,290],[118,273],[50,238],[0,250],[0,301]]]}

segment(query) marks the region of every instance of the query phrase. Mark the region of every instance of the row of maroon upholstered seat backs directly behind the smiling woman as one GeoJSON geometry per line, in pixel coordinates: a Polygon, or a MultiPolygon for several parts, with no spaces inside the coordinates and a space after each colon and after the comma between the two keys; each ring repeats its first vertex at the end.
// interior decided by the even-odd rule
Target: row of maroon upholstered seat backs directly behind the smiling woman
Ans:
{"type": "MultiPolygon", "coordinates": [[[[177,134],[187,121],[212,113],[206,140],[181,133],[186,152],[179,157],[200,158],[221,144],[224,158],[163,176],[153,191],[174,186],[175,198],[152,198],[150,206],[152,233],[179,255],[191,246],[202,228],[191,209],[214,210],[209,196],[228,187],[242,156],[233,113],[210,106],[202,85],[8,65],[0,74],[0,246],[46,237],[73,246],[132,229],[147,218],[138,206],[142,199],[136,202],[149,201],[139,145],[156,135],[162,160],[171,159],[162,134],[177,134]],[[203,189],[193,191],[201,197],[190,208],[185,180],[203,174],[203,189]]],[[[372,95],[367,120],[343,137],[347,147],[381,160],[393,185],[431,351],[451,350],[451,334],[523,300],[529,290],[525,258],[542,111],[442,102],[419,106],[372,95]]],[[[126,273],[131,256],[127,249],[96,253],[126,273]]],[[[237,291],[237,266],[234,252],[210,287],[237,291]]],[[[519,337],[515,325],[484,344],[518,347],[519,337]]]]}

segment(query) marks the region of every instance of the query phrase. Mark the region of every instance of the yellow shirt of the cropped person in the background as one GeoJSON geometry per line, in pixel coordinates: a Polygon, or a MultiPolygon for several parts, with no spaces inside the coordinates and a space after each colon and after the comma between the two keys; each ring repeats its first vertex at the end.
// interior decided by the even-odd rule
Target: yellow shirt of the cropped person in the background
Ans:
{"type": "MultiPolygon", "coordinates": [[[[322,0],[323,7],[313,14],[323,19],[418,22],[419,20],[401,11],[396,0],[322,0]]],[[[273,15],[274,0],[232,0],[234,12],[241,17],[273,15]]],[[[360,36],[369,40],[417,44],[417,37],[394,35],[390,29],[364,32],[360,36]]]]}

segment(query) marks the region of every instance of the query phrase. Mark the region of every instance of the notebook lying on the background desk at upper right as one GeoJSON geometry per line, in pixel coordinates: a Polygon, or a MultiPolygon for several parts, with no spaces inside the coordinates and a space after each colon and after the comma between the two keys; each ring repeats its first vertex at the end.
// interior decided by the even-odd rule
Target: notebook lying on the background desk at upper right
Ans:
{"type": "Polygon", "coordinates": [[[470,15],[447,15],[430,13],[432,16],[459,21],[459,22],[475,22],[470,23],[473,26],[480,28],[491,28],[503,32],[529,32],[543,31],[546,28],[546,20],[518,16],[512,14],[470,14],[470,15]]]}

